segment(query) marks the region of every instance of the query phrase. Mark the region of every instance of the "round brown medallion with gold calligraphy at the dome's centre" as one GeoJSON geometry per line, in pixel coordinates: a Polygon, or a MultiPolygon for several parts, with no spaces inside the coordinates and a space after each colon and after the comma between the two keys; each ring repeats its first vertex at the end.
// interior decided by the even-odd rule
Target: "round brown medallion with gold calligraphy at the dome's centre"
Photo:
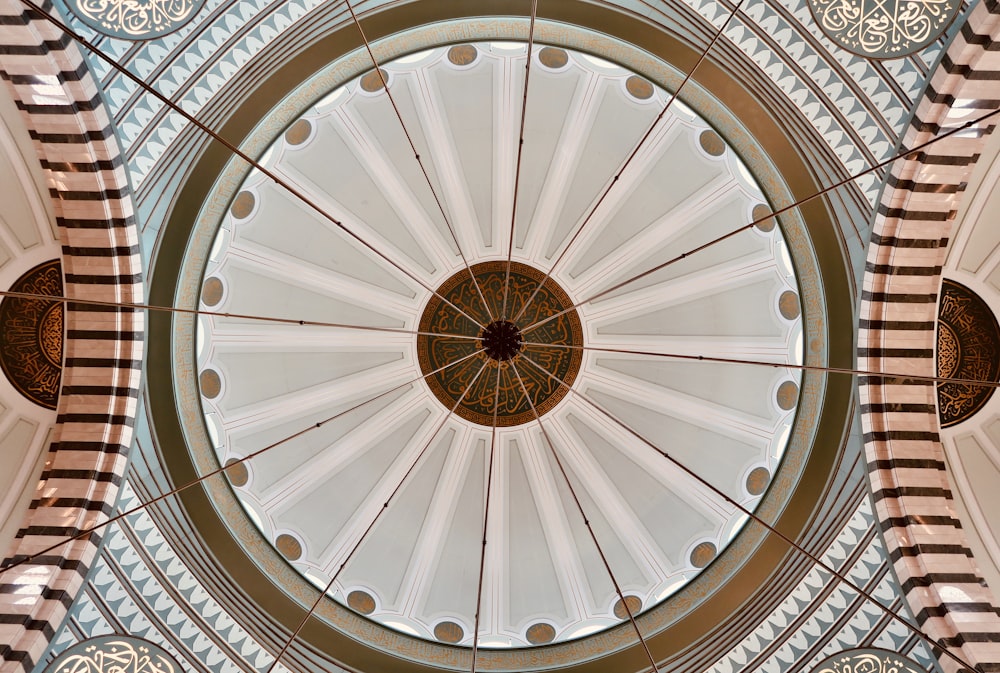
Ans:
{"type": "Polygon", "coordinates": [[[507,262],[495,261],[445,280],[424,308],[420,332],[417,356],[431,392],[457,416],[484,426],[493,425],[494,409],[500,427],[551,411],[583,360],[573,301],[520,262],[510,263],[509,279],[507,262]]]}

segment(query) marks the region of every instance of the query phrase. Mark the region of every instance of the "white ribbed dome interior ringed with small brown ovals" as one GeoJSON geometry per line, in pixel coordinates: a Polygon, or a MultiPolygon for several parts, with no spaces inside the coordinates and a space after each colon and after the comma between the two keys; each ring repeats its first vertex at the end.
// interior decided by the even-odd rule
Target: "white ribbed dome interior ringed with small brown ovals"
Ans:
{"type": "Polygon", "coordinates": [[[752,509],[779,469],[798,373],[666,354],[802,362],[798,285],[770,222],[615,289],[768,212],[746,166],[679,101],[599,200],[668,99],[639,76],[536,46],[515,210],[526,53],[483,42],[384,65],[426,179],[375,73],[316,102],[261,162],[339,224],[252,171],[219,223],[202,289],[204,309],[244,317],[203,316],[197,330],[219,463],[273,446],[229,473],[264,537],[315,584],[332,578],[335,600],[423,638],[470,645],[481,590],[485,647],[627,619],[575,497],[629,607],[644,610],[745,522],[715,491],[752,509]],[[519,322],[503,308],[504,283],[491,282],[505,282],[511,240],[514,275],[550,273],[577,316],[577,337],[560,343],[588,350],[531,345],[528,317],[549,314],[519,322]],[[449,294],[467,266],[482,287],[449,294]],[[495,431],[451,413],[425,382],[414,332],[441,295],[469,314],[440,330],[471,337],[453,343],[474,364],[453,367],[465,378],[446,370],[444,387],[460,397],[481,376],[487,418],[501,396],[521,405],[517,418],[497,412],[495,431]],[[499,361],[475,339],[504,316],[524,343],[499,361]],[[567,351],[574,375],[559,376],[572,392],[543,404],[532,386],[548,379],[529,360],[567,351]]]}

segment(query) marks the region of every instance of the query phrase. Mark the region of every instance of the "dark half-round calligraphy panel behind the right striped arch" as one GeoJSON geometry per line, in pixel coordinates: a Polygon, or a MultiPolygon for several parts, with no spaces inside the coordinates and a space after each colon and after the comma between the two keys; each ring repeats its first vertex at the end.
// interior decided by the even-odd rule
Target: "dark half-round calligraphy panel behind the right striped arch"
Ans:
{"type": "MultiPolygon", "coordinates": [[[[938,376],[995,382],[1000,378],[1000,327],[976,293],[945,280],[938,304],[938,376]]],[[[961,423],[979,411],[994,388],[955,381],[938,382],[941,427],[961,423]]]]}

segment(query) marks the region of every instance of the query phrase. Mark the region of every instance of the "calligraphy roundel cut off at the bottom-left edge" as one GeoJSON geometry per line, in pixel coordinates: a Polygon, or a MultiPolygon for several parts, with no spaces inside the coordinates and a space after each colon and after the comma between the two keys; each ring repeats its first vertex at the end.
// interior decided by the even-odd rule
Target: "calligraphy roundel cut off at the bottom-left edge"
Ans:
{"type": "Polygon", "coordinates": [[[46,673],[180,673],[163,649],[131,636],[99,636],[60,654],[46,673]]]}

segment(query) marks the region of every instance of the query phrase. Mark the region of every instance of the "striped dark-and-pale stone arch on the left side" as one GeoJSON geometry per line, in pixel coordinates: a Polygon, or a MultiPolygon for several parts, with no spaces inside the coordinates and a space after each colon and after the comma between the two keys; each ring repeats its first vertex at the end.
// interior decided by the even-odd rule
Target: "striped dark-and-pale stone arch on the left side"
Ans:
{"type": "MultiPolygon", "coordinates": [[[[77,46],[18,0],[0,0],[0,77],[24,116],[46,176],[67,296],[141,302],[125,169],[77,46]]],[[[125,472],[144,316],[80,304],[66,308],[54,441],[31,509],[0,565],[106,520],[125,472]]],[[[32,670],[83,586],[99,544],[95,534],[0,575],[0,671],[32,670]]]]}

